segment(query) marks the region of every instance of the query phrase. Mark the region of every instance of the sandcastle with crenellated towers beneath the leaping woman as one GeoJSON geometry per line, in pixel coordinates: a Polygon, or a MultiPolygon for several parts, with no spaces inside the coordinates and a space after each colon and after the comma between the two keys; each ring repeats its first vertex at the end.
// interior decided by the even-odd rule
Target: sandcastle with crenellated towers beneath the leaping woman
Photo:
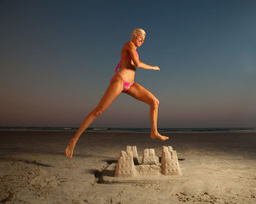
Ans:
{"type": "Polygon", "coordinates": [[[127,146],[121,151],[117,164],[110,165],[103,173],[105,182],[157,181],[171,176],[181,176],[178,157],[172,146],[162,146],[162,157],[157,157],[154,149],[144,149],[138,157],[136,146],[127,146]],[[161,161],[160,161],[161,160],[161,161]]]}

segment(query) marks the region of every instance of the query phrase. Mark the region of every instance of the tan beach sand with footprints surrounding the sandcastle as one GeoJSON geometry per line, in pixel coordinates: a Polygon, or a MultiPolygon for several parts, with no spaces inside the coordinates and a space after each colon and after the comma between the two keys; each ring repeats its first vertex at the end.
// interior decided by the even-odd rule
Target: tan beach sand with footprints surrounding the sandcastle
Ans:
{"type": "Polygon", "coordinates": [[[1,203],[256,203],[256,133],[83,133],[0,131],[1,203]],[[121,150],[173,146],[182,176],[169,181],[101,184],[121,150]],[[185,160],[181,160],[185,159],[185,160]]]}

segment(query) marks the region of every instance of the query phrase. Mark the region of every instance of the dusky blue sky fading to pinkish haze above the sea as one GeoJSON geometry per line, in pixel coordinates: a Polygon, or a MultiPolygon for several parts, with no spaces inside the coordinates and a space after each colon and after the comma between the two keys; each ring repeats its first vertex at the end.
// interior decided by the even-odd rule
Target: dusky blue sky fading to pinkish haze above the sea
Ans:
{"type": "MultiPolygon", "coordinates": [[[[256,127],[256,1],[0,1],[0,126],[78,127],[134,28],[158,127],[256,127]]],[[[91,127],[150,127],[122,93],[91,127]]]]}

